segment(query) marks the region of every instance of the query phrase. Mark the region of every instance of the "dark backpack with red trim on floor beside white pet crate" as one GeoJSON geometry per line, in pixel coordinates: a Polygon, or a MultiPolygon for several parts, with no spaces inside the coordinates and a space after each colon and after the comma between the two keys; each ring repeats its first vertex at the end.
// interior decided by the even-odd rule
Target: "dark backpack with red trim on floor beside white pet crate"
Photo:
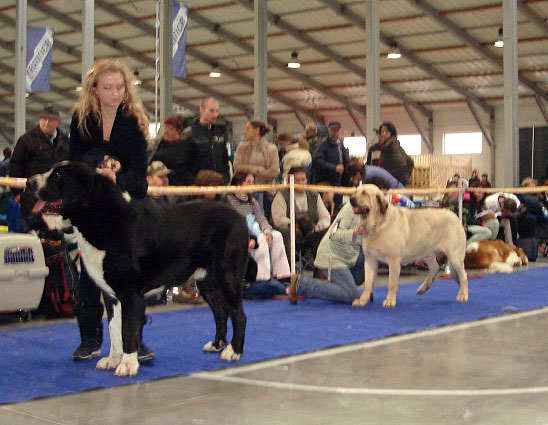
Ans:
{"type": "Polygon", "coordinates": [[[64,241],[45,240],[43,246],[49,275],[38,313],[47,318],[73,317],[76,307],[74,286],[79,279],[76,270],[78,256],[74,260],[70,258],[64,241]]]}

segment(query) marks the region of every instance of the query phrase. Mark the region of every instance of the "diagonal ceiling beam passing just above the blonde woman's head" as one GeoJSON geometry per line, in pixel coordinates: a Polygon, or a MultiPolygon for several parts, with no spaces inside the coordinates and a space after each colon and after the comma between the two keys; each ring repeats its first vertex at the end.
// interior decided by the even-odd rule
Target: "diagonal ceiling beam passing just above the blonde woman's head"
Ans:
{"type": "MultiPolygon", "coordinates": [[[[44,4],[43,2],[41,2],[39,0],[27,0],[27,1],[28,1],[29,6],[35,8],[37,10],[40,10],[41,12],[44,12],[44,13],[48,14],[49,16],[59,20],[60,22],[63,22],[65,25],[69,25],[69,26],[71,26],[72,28],[75,28],[75,29],[81,29],[81,26],[82,26],[81,22],[74,19],[74,18],[72,18],[72,17],[70,17],[69,15],[66,15],[62,12],[59,12],[58,10],[44,4]]],[[[112,7],[112,5],[111,5],[111,7],[112,7]]],[[[133,49],[132,47],[126,45],[125,43],[122,43],[119,40],[116,40],[112,37],[109,37],[106,34],[102,33],[101,31],[97,31],[97,30],[95,31],[95,39],[102,42],[102,43],[104,43],[104,44],[106,44],[107,46],[109,46],[113,49],[116,49],[116,50],[119,50],[120,52],[123,52],[124,54],[130,56],[132,59],[134,59],[134,60],[136,60],[140,63],[143,63],[145,65],[152,66],[152,68],[155,69],[156,63],[155,63],[154,59],[149,58],[148,56],[146,56],[142,52],[139,52],[138,50],[133,49]]],[[[188,78],[187,77],[184,80],[184,82],[190,87],[194,87],[194,88],[204,92],[207,95],[214,96],[218,100],[221,100],[224,103],[233,106],[234,108],[242,111],[246,115],[249,114],[250,108],[246,104],[244,104],[242,102],[239,102],[239,101],[236,101],[234,99],[231,99],[230,97],[224,95],[223,93],[219,92],[218,90],[215,90],[215,89],[213,89],[209,86],[206,86],[205,84],[202,84],[202,83],[194,80],[193,78],[188,78]]],[[[143,85],[143,86],[145,86],[145,85],[143,85]]],[[[147,87],[147,89],[150,89],[150,87],[147,87]]],[[[174,97],[174,99],[176,99],[176,98],[174,97]]],[[[184,102],[183,99],[181,99],[181,100],[184,102]]],[[[177,103],[179,103],[178,100],[176,100],[176,101],[177,101],[177,103]]],[[[194,110],[196,109],[195,105],[188,105],[188,106],[192,106],[192,109],[194,109],[194,110]]]]}

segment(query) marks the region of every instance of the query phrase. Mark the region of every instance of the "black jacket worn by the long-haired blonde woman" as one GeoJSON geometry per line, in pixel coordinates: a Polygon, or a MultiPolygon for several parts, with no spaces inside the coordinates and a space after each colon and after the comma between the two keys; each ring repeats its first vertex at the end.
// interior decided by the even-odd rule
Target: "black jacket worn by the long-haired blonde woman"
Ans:
{"type": "Polygon", "coordinates": [[[118,107],[108,142],[95,117],[86,118],[89,135],[78,129],[75,114],[70,124],[70,154],[72,161],[86,162],[97,167],[104,155],[115,156],[122,165],[116,183],[132,197],[144,198],[147,193],[147,143],[137,125],[137,119],[127,116],[118,107]]]}

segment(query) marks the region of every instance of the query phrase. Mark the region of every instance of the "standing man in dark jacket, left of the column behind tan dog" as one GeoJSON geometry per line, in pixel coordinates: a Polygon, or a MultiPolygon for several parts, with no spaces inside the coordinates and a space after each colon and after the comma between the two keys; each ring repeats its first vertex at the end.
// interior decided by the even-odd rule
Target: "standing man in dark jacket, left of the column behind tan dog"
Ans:
{"type": "MultiPolygon", "coordinates": [[[[341,123],[331,121],[327,126],[328,136],[312,154],[312,183],[328,181],[333,186],[340,186],[344,167],[348,163],[348,151],[339,138],[341,123]]],[[[342,196],[335,195],[335,210],[341,207],[342,196]]]]}

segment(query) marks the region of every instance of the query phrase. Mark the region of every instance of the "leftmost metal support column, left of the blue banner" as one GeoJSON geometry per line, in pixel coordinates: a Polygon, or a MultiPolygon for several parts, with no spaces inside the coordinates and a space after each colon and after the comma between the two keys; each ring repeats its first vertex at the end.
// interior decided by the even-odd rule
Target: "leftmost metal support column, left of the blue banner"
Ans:
{"type": "Polygon", "coordinates": [[[27,0],[17,0],[15,40],[15,131],[14,141],[25,133],[25,92],[27,74],[27,0]]]}

